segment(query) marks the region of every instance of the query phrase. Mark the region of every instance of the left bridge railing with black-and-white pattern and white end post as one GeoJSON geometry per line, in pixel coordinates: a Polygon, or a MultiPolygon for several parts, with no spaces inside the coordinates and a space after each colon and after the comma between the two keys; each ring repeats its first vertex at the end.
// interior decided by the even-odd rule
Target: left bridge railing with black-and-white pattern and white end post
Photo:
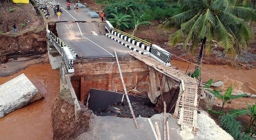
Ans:
{"type": "Polygon", "coordinates": [[[47,30],[47,37],[53,43],[53,46],[62,55],[63,60],[68,68],[68,72],[69,73],[75,72],[74,57],[73,57],[69,47],[67,47],[66,43],[63,42],[60,38],[58,38],[56,35],[54,35],[50,30],[47,30]]]}

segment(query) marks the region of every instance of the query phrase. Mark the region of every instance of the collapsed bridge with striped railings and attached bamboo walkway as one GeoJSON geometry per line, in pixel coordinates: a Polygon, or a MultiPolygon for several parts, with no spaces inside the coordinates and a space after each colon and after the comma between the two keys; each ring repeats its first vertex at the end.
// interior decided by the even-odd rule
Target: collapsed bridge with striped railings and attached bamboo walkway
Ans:
{"type": "Polygon", "coordinates": [[[169,101],[173,115],[178,117],[182,130],[196,131],[198,82],[171,66],[169,52],[114,29],[108,21],[108,33],[98,30],[102,24],[96,22],[53,25],[56,31],[47,30],[50,62],[53,68],[60,68],[61,89],[69,89],[73,94],[75,112],[81,109],[79,101],[86,105],[91,88],[122,89],[114,57],[116,50],[126,86],[148,96],[152,103],[157,103],[159,96],[172,88],[179,90],[177,97],[169,101]]]}

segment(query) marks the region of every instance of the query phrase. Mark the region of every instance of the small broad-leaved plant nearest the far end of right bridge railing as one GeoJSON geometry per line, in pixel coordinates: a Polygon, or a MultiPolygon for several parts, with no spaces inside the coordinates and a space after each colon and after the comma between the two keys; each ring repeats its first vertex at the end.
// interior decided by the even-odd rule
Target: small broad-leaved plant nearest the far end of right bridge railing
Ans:
{"type": "Polygon", "coordinates": [[[121,30],[122,26],[125,26],[126,28],[129,28],[129,18],[130,15],[123,15],[123,14],[114,14],[110,13],[111,16],[114,18],[110,18],[109,22],[118,30],[121,30]]]}

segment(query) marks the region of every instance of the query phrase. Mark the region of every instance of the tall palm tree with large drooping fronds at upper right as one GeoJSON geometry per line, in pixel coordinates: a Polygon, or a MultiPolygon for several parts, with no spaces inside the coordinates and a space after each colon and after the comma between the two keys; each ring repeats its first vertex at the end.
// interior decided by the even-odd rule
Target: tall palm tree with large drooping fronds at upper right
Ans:
{"type": "Polygon", "coordinates": [[[201,61],[203,48],[209,54],[213,40],[224,47],[230,56],[240,54],[242,48],[254,39],[252,29],[244,20],[256,20],[253,9],[236,6],[235,0],[179,0],[185,11],[167,19],[160,27],[179,29],[170,36],[175,45],[184,38],[184,48],[192,42],[190,51],[201,42],[197,65],[201,61]]]}

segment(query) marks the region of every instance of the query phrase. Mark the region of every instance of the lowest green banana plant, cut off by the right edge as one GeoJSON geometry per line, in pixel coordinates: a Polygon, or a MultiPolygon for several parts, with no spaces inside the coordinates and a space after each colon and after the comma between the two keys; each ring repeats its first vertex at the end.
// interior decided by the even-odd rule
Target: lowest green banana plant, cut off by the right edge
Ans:
{"type": "MultiPolygon", "coordinates": [[[[247,133],[251,133],[253,131],[253,126],[256,123],[256,103],[254,103],[252,106],[248,103],[247,104],[247,109],[234,109],[230,110],[227,113],[233,117],[238,117],[241,115],[249,114],[251,116],[250,123],[247,127],[247,133]]],[[[253,133],[252,133],[253,135],[253,133]]],[[[251,135],[251,136],[252,136],[251,135]]]]}

